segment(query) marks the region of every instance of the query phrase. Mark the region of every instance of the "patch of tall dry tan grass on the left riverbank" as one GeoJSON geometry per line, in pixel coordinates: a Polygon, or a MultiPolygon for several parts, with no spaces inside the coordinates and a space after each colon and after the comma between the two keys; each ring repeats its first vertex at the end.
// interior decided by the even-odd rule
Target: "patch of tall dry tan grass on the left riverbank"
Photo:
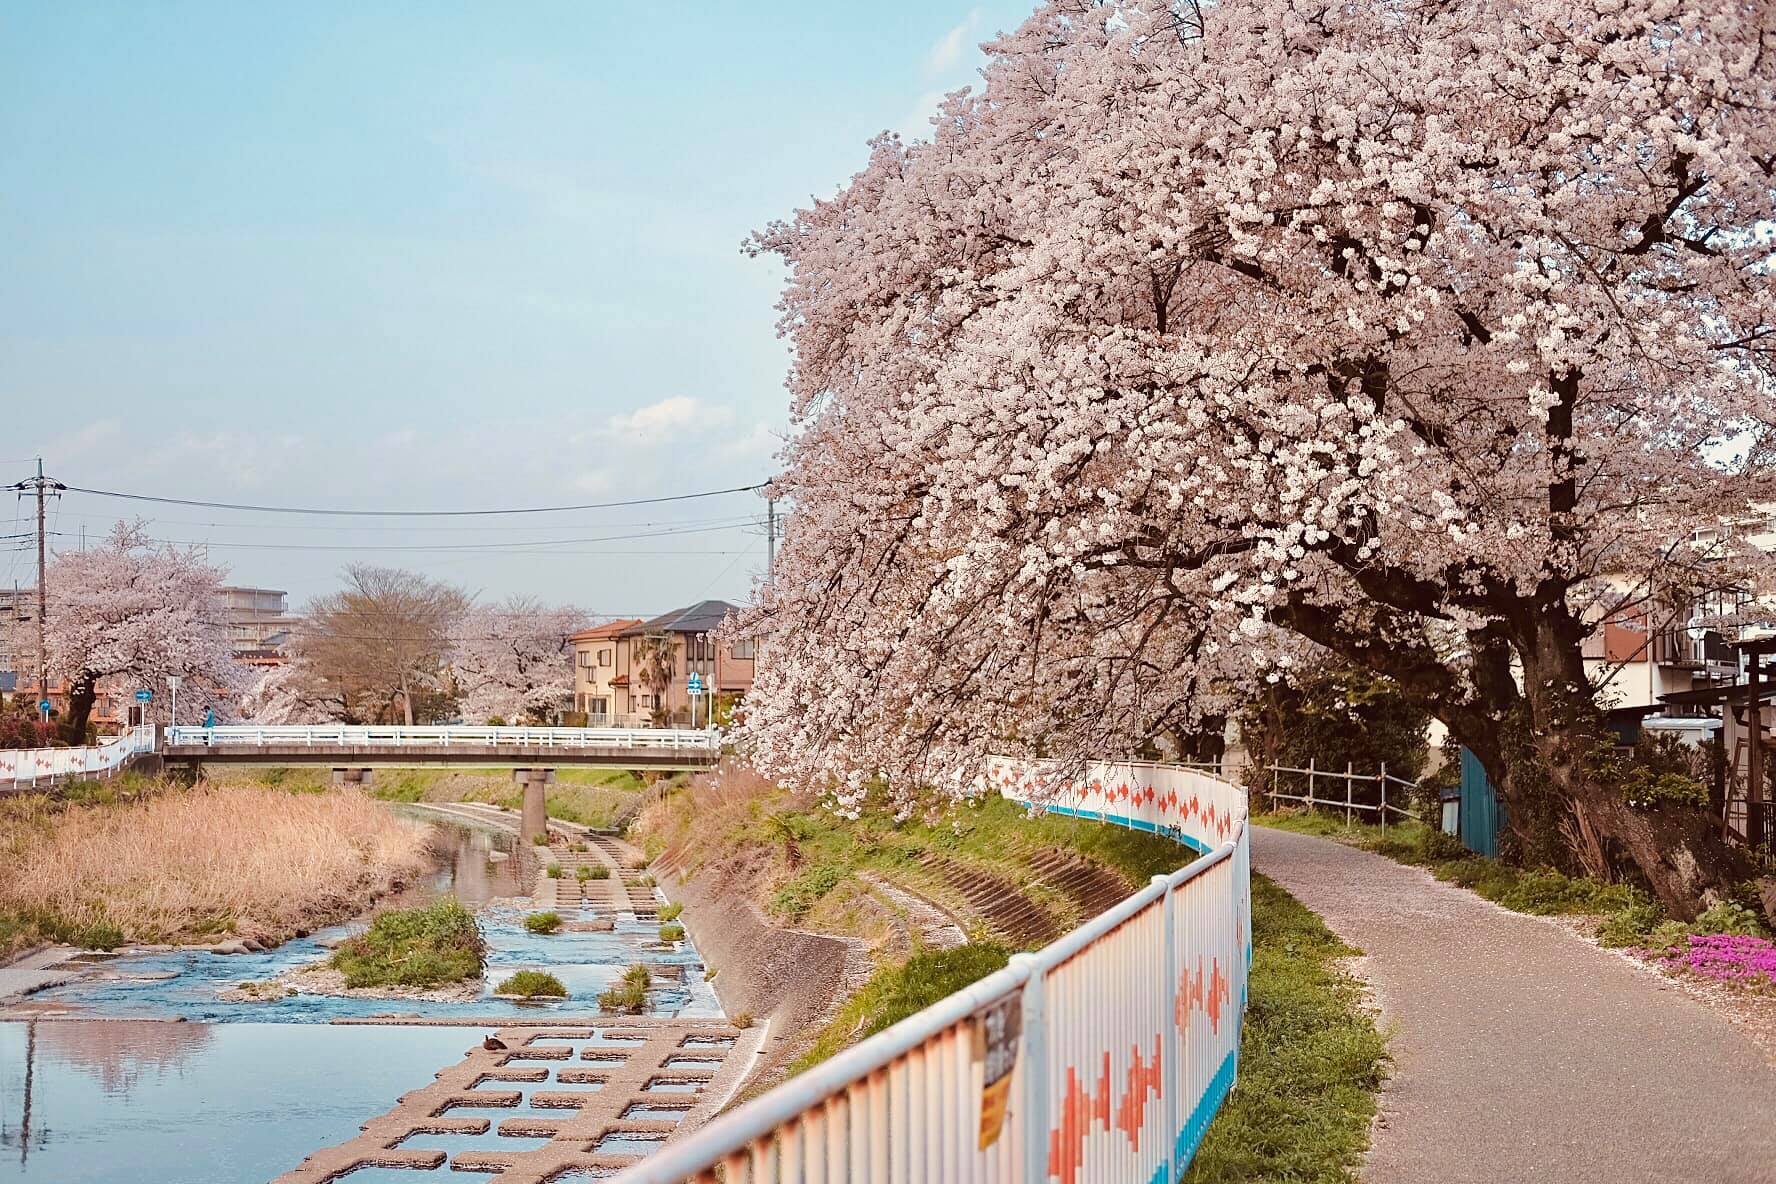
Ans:
{"type": "Polygon", "coordinates": [[[131,941],[282,941],[428,866],[430,833],[357,792],[197,786],[7,818],[0,911],[131,941]]]}

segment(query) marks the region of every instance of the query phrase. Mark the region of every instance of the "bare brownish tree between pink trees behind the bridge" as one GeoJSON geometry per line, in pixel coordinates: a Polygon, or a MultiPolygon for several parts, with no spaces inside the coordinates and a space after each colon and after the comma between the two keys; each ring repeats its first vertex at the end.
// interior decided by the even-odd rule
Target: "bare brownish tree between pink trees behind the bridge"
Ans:
{"type": "Polygon", "coordinates": [[[341,719],[392,714],[398,703],[400,719],[412,724],[416,694],[439,685],[467,607],[449,584],[352,564],[345,588],[309,604],[297,650],[341,719]]]}

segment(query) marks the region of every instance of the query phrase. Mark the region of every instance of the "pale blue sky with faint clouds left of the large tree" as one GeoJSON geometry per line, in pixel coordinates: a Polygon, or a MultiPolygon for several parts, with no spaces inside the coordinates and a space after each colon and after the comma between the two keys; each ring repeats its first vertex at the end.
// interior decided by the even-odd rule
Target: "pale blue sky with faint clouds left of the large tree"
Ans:
{"type": "MultiPolygon", "coordinates": [[[[36,454],[89,488],[339,508],[757,481],[781,268],[741,240],[876,131],[924,133],[1030,7],[5,4],[0,483],[36,454]]],[[[53,543],[135,513],[298,602],[366,561],[654,612],[764,566],[749,497],[345,529],[69,493],[53,543]],[[657,524],[694,531],[611,538],[657,524]]],[[[0,550],[0,580],[30,559],[0,550]]]]}

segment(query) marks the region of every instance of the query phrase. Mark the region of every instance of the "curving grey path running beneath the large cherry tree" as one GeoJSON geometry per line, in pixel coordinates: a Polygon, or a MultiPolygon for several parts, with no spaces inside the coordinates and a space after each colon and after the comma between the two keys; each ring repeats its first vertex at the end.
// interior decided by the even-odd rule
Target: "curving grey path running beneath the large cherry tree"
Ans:
{"type": "Polygon", "coordinates": [[[1369,1184],[1776,1182],[1776,1070],[1696,999],[1421,868],[1266,827],[1252,852],[1366,955],[1394,1056],[1369,1184]]]}

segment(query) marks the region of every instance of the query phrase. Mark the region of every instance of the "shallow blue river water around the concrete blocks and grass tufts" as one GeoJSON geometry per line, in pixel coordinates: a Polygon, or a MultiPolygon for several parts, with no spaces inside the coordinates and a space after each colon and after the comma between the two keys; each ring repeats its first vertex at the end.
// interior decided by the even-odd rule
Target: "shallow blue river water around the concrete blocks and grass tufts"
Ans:
{"type": "MultiPolygon", "coordinates": [[[[428,820],[439,822],[437,817],[428,820]]],[[[323,960],[329,951],[321,943],[352,934],[353,925],[263,953],[174,950],[96,959],[91,976],[28,999],[32,1010],[91,1019],[0,1022],[0,1180],[263,1184],[309,1152],[353,1138],[366,1118],[432,1081],[439,1069],[458,1062],[487,1035],[476,1026],[329,1026],[327,1021],[341,1017],[417,1014],[496,1022],[549,1012],[584,1017],[597,1012],[597,994],[634,962],[684,967],[682,983],[654,991],[652,1014],[721,1014],[689,941],[657,950],[659,923],[639,921],[632,912],[618,914],[607,934],[529,934],[526,911],[506,900],[522,889],[519,859],[496,857],[496,852],[510,852],[511,836],[474,825],[440,825],[449,836],[444,866],[400,904],[455,893],[480,905],[488,943],[480,998],[462,1003],[311,994],[266,1003],[218,998],[236,983],[265,982],[323,960]],[[501,978],[526,967],[561,978],[568,998],[549,1003],[492,998],[501,978]],[[139,1022],[167,1019],[194,1022],[139,1022]]],[[[583,916],[575,909],[558,912],[567,921],[583,916]]],[[[630,1042],[599,1033],[581,1044],[630,1042]]],[[[474,1113],[453,1111],[453,1117],[474,1113]]],[[[559,1109],[536,1111],[527,1104],[501,1108],[497,1117],[531,1113],[563,1117],[559,1109]]],[[[513,1138],[416,1136],[412,1145],[510,1150],[513,1138]]],[[[657,1143],[638,1150],[654,1147],[657,1143]]],[[[364,1168],[348,1177],[350,1184],[474,1184],[488,1179],[476,1172],[385,1168],[364,1168]]]]}

